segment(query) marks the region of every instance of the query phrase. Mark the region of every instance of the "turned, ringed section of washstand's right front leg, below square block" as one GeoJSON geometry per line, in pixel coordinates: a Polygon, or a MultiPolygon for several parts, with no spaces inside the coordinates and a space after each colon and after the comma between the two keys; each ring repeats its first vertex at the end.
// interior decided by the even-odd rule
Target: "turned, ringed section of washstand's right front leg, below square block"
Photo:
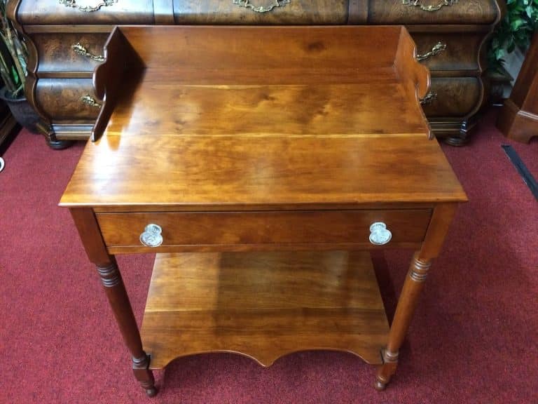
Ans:
{"type": "Polygon", "coordinates": [[[419,259],[420,253],[415,253],[411,267],[403,283],[401,295],[396,306],[396,313],[390,326],[389,342],[382,350],[383,364],[378,368],[375,389],[384,390],[390,381],[398,364],[398,353],[403,339],[406,337],[411,318],[418,304],[418,297],[424,287],[427,273],[431,265],[430,260],[419,259]]]}

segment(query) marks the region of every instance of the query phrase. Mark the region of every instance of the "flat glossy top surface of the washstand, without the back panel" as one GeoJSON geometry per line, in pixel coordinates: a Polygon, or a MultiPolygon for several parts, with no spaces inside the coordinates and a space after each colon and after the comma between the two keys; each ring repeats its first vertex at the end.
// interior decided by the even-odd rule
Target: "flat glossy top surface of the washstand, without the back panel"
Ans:
{"type": "MultiPolygon", "coordinates": [[[[330,31],[308,32],[319,41],[330,31]]],[[[318,56],[338,43],[323,40],[315,42],[318,56]]],[[[345,48],[338,55],[345,60],[345,48]]],[[[285,69],[262,72],[255,62],[235,74],[179,62],[172,72],[146,66],[104,135],[88,142],[61,205],[248,210],[466,200],[428,139],[415,87],[394,65],[284,77],[285,69]],[[268,79],[272,73],[280,79],[268,79]]]]}

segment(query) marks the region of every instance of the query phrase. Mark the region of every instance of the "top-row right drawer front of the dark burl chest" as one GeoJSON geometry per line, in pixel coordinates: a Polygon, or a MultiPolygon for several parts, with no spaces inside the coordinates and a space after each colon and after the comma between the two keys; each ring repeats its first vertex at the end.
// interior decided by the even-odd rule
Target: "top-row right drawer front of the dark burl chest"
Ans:
{"type": "Polygon", "coordinates": [[[492,24],[499,15],[495,0],[460,0],[452,6],[443,6],[445,0],[383,0],[369,4],[371,24],[492,24]],[[432,11],[427,11],[429,6],[432,11]]]}

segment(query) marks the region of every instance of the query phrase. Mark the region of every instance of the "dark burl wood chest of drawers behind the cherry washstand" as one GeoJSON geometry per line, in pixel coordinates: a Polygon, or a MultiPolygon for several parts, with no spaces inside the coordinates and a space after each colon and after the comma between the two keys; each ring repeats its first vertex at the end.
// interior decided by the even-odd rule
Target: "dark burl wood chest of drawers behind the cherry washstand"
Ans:
{"type": "Polygon", "coordinates": [[[114,25],[352,24],[406,25],[432,71],[432,129],[462,144],[487,96],[483,46],[501,17],[497,0],[10,0],[9,13],[33,45],[27,97],[50,123],[50,142],[90,134],[98,107],[81,97],[91,90],[66,80],[90,79],[114,25]]]}

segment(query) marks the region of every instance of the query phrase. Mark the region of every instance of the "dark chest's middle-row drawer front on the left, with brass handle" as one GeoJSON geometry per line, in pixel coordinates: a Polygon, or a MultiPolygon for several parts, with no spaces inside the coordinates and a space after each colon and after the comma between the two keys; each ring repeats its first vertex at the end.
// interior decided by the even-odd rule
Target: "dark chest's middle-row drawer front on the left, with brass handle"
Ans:
{"type": "Polygon", "coordinates": [[[34,34],[39,73],[43,72],[88,72],[91,76],[95,66],[102,62],[103,47],[108,33],[34,34]]]}

